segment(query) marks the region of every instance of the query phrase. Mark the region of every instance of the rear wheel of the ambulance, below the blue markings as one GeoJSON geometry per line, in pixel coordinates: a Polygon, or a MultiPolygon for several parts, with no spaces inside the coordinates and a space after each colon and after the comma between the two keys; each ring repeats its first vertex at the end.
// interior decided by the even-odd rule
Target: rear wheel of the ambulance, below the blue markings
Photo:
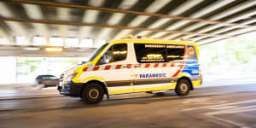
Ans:
{"type": "Polygon", "coordinates": [[[177,81],[175,92],[178,96],[187,96],[191,90],[191,84],[187,79],[180,79],[177,81]]]}

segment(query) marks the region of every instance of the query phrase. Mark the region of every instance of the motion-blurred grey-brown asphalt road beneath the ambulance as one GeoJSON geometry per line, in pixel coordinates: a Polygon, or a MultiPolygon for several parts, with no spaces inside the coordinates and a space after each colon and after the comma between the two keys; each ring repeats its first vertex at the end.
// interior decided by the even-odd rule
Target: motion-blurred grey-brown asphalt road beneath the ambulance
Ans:
{"type": "Polygon", "coordinates": [[[0,127],[256,128],[256,84],[197,88],[189,96],[137,93],[85,105],[67,96],[0,100],[0,127]]]}

